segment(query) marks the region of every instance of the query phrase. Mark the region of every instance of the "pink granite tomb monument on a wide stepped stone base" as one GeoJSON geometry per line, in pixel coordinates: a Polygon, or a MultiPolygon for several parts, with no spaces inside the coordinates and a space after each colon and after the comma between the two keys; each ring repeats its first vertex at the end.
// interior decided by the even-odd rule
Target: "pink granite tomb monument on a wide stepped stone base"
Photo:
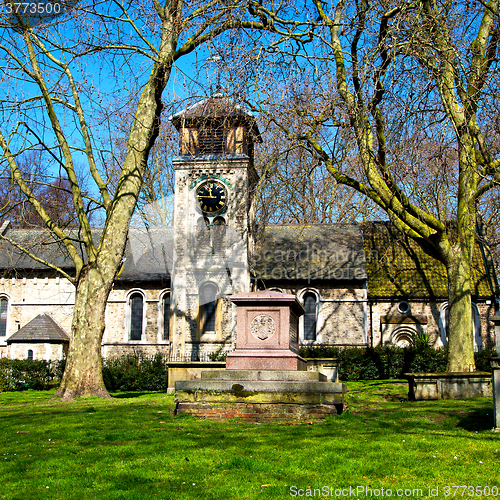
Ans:
{"type": "Polygon", "coordinates": [[[231,297],[237,306],[236,350],[226,370],[175,383],[176,413],[211,419],[313,420],[342,412],[346,386],[307,371],[298,354],[294,295],[253,292],[231,297]]]}

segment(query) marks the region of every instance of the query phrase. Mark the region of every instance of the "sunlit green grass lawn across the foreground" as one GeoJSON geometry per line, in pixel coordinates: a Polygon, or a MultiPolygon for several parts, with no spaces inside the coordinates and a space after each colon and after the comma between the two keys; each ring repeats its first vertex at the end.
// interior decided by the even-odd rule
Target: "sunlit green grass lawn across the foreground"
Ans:
{"type": "Polygon", "coordinates": [[[342,415],[295,425],[172,416],[163,393],[1,393],[0,498],[500,498],[491,399],[408,402],[403,381],[347,386],[342,415]]]}

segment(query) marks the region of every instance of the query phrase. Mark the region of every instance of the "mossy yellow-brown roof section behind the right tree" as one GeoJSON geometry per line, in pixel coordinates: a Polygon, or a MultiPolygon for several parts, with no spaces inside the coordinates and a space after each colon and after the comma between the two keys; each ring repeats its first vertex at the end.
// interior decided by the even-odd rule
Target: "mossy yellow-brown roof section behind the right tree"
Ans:
{"type": "MultiPolygon", "coordinates": [[[[363,238],[370,297],[448,297],[444,264],[424,252],[390,222],[363,223],[363,238]]],[[[472,290],[476,296],[492,296],[477,244],[472,262],[472,290]]]]}

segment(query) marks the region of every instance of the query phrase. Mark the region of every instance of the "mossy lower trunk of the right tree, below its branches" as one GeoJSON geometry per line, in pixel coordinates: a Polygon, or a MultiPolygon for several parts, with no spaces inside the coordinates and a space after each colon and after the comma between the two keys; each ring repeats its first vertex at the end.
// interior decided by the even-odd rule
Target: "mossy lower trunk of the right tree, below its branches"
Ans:
{"type": "Polygon", "coordinates": [[[456,252],[448,271],[448,366],[449,372],[473,372],[474,330],[472,327],[470,260],[456,252]]]}

